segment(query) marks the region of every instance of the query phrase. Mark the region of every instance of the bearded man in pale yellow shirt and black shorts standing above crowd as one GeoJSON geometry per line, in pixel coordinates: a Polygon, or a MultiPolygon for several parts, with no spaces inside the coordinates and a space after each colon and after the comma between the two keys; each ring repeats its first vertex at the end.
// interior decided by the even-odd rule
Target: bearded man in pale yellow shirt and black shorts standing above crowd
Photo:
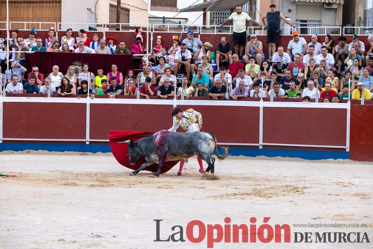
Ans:
{"type": "Polygon", "coordinates": [[[220,28],[225,24],[233,20],[233,50],[235,54],[239,55],[239,59],[242,60],[244,55],[245,45],[247,43],[247,34],[246,34],[246,21],[250,21],[252,24],[258,27],[264,27],[261,24],[258,24],[255,20],[251,19],[247,13],[242,12],[242,6],[236,6],[236,12],[233,12],[222,24],[220,28]],[[238,53],[239,52],[239,53],[238,53]]]}

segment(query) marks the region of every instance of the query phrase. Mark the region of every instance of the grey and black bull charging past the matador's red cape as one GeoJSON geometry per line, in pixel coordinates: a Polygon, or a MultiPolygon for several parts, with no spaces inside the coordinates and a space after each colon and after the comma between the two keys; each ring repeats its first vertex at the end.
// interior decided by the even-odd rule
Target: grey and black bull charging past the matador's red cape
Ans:
{"type": "Polygon", "coordinates": [[[158,164],[157,172],[149,177],[159,177],[164,162],[186,160],[194,155],[197,155],[209,165],[205,172],[211,170],[211,174],[214,174],[215,158],[212,157],[214,150],[217,158],[221,160],[228,156],[226,147],[222,147],[223,155],[219,155],[216,137],[211,132],[178,133],[162,130],[142,137],[135,142],[132,141],[131,137],[130,140],[121,143],[128,144],[129,164],[134,165],[141,156],[144,156],[146,160],[130,175],[137,175],[142,169],[152,164],[158,164]]]}

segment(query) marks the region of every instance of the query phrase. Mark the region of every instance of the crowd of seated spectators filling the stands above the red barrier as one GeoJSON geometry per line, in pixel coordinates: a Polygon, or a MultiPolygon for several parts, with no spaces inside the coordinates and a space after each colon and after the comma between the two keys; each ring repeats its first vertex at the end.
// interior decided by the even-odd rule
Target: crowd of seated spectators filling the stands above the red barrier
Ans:
{"type": "MultiPolygon", "coordinates": [[[[138,28],[135,44],[142,50],[141,32],[142,28],[138,28]]],[[[35,38],[35,30],[30,31],[27,39],[19,38],[17,33],[16,30],[11,32],[9,43],[3,41],[4,51],[131,53],[123,40],[117,43],[114,37],[104,40],[94,34],[91,41],[87,31],[82,29],[78,32],[76,43],[72,29],[66,30],[60,41],[50,29],[45,46],[40,37],[35,38]]],[[[0,53],[0,74],[6,71],[7,64],[10,67],[6,71],[6,82],[1,81],[1,84],[9,93],[37,94],[50,90],[61,96],[94,93],[111,98],[136,95],[137,92],[147,98],[158,96],[162,99],[178,97],[182,93],[186,99],[209,96],[213,100],[225,97],[226,93],[231,100],[270,96],[333,100],[335,96],[347,99],[348,94],[351,99],[360,99],[361,96],[373,98],[373,35],[368,37],[368,51],[357,35],[348,42],[346,37],[341,36],[338,44],[331,35],[326,35],[323,43],[317,41],[317,35],[312,35],[308,43],[297,31],[292,36],[286,52],[284,47],[279,46],[269,58],[265,58],[263,43],[255,34],[250,36],[242,57],[233,53],[234,46],[226,37],[222,37],[213,51],[211,43],[203,43],[194,37],[192,29],[182,41],[174,36],[170,49],[163,47],[162,37],[159,36],[152,48],[152,58],[143,58],[141,72],[137,75],[134,70],[119,72],[116,64],[112,64],[112,71],[104,75],[102,68],[90,71],[89,63],[84,63],[81,68],[69,66],[66,73],[60,72],[58,65],[53,66],[52,72],[39,72],[35,65],[32,72],[26,74],[25,53],[12,53],[9,58],[6,53],[0,53]],[[216,59],[215,71],[211,63],[213,59],[216,59]],[[151,60],[153,62],[147,63],[151,60]]]]}

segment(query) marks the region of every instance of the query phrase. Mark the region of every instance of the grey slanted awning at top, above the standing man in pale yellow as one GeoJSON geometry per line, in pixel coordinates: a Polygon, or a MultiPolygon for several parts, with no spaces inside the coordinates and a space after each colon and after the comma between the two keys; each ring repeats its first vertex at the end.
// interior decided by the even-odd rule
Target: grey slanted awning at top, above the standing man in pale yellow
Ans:
{"type": "MultiPolygon", "coordinates": [[[[211,4],[213,4],[209,11],[213,10],[230,10],[237,5],[244,5],[248,0],[211,0],[204,3],[192,5],[184,9],[179,9],[179,12],[195,12],[203,11],[207,9],[211,4]]],[[[342,0],[343,1],[343,0],[342,0]]]]}

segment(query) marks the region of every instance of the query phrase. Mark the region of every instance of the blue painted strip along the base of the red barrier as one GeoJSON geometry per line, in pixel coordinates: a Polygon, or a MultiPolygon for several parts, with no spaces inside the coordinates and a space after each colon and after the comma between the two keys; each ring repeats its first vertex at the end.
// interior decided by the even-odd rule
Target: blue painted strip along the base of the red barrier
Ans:
{"type": "MultiPolygon", "coordinates": [[[[109,144],[48,144],[48,143],[0,143],[0,152],[4,150],[47,150],[47,151],[76,151],[76,152],[111,152],[109,144]]],[[[219,154],[222,150],[218,148],[219,154]]],[[[327,150],[284,150],[284,149],[259,149],[259,148],[234,148],[229,147],[231,156],[282,156],[297,157],[309,160],[319,159],[349,159],[349,153],[345,151],[327,150]]]]}

